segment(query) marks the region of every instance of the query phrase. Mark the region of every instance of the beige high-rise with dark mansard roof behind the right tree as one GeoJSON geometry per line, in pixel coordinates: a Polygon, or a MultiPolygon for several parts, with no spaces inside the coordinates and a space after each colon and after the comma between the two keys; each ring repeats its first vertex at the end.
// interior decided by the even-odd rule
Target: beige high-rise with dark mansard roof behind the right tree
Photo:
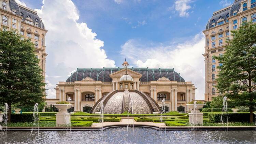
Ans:
{"type": "Polygon", "coordinates": [[[209,19],[205,30],[205,93],[204,100],[211,101],[220,93],[215,88],[218,74],[217,66],[221,66],[213,56],[225,53],[226,39],[232,39],[231,30],[239,29],[244,23],[256,23],[256,0],[234,0],[233,4],[216,11],[209,19]]]}

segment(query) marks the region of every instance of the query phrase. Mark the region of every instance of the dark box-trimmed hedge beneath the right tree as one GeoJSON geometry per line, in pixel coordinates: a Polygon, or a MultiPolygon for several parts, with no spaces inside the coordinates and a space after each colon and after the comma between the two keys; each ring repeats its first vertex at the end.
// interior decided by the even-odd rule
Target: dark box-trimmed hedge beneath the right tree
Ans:
{"type": "MultiPolygon", "coordinates": [[[[209,113],[208,117],[210,121],[214,123],[221,122],[221,115],[222,113],[209,113]]],[[[255,114],[253,114],[253,120],[255,121],[255,114]]],[[[227,122],[227,115],[223,113],[223,121],[227,122]]],[[[250,122],[250,113],[246,112],[238,112],[238,113],[231,113],[228,112],[228,122],[250,122]]]]}

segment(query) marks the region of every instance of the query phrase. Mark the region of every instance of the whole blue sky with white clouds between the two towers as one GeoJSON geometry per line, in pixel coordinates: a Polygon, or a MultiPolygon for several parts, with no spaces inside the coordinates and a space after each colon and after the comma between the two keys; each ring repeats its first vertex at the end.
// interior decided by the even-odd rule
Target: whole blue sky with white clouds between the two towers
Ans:
{"type": "Polygon", "coordinates": [[[76,68],[175,68],[204,99],[204,36],[233,0],[16,0],[35,9],[46,34],[48,97],[76,68]]]}

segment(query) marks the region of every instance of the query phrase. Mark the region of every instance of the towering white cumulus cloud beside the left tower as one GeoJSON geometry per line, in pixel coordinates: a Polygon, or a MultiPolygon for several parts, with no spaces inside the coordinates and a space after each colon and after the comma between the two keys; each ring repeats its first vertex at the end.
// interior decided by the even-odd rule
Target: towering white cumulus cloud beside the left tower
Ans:
{"type": "Polygon", "coordinates": [[[46,33],[47,98],[55,98],[55,87],[66,81],[76,68],[115,67],[102,47],[104,42],[86,23],[77,23],[79,13],[71,0],[43,0],[35,9],[42,18],[46,33]],[[56,77],[57,75],[57,77],[56,77]]]}

